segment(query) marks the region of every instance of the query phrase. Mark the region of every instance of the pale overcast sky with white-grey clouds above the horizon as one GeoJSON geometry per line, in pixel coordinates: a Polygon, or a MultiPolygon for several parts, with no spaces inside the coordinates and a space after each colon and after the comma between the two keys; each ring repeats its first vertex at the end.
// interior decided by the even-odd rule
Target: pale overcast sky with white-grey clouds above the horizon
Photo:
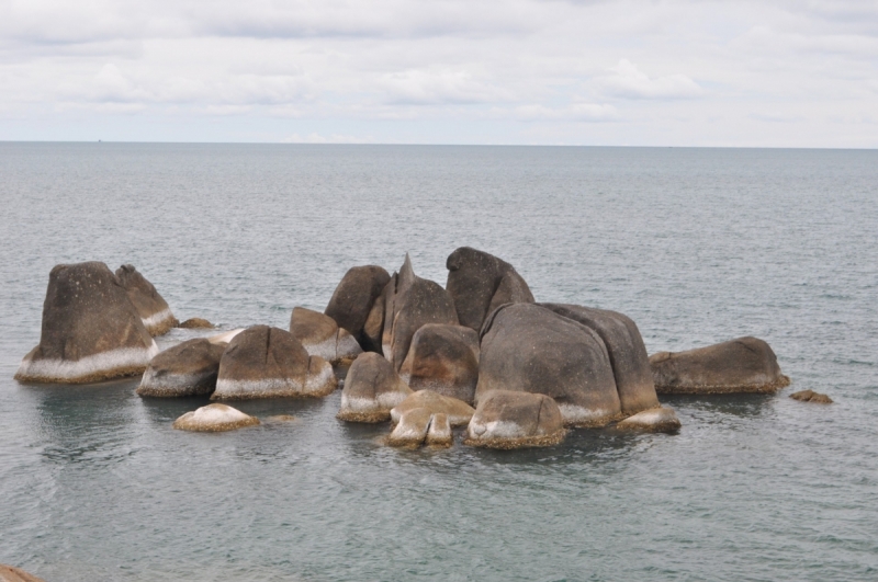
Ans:
{"type": "Polygon", "coordinates": [[[878,147],[878,0],[0,0],[0,140],[878,147]]]}

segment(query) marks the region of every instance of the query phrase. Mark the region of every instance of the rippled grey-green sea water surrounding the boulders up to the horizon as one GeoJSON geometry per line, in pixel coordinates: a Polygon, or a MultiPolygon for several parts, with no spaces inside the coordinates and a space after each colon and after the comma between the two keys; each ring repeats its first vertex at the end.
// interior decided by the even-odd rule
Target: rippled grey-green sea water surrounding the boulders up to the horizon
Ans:
{"type": "MultiPolygon", "coordinates": [[[[48,582],[878,580],[878,151],[0,144],[0,562],[48,582]],[[133,263],[180,319],[285,327],[352,265],[472,246],[650,353],[752,334],[792,386],[666,397],[677,435],[381,446],[323,400],[25,386],[56,263],[133,263]],[[788,398],[811,388],[835,403],[788,398]]],[[[199,334],[175,330],[161,345],[199,334]]]]}

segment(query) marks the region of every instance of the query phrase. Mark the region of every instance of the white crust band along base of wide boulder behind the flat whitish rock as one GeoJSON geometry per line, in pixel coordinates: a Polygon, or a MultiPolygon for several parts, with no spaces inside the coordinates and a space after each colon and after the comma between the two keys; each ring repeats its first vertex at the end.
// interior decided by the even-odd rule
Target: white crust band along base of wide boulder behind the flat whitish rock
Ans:
{"type": "Polygon", "coordinates": [[[308,374],[305,381],[296,378],[264,378],[261,380],[232,380],[221,378],[216,381],[216,390],[211,400],[244,400],[248,398],[281,397],[324,397],[333,393],[338,387],[338,378],[329,362],[314,356],[312,364],[319,362],[320,369],[308,374]]]}

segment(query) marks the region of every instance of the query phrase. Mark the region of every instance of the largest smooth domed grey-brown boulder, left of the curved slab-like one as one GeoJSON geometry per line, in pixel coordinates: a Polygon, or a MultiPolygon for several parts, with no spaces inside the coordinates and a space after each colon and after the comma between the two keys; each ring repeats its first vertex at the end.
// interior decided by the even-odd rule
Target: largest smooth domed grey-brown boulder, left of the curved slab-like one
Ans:
{"type": "Polygon", "coordinates": [[[573,426],[604,426],[622,416],[600,336],[534,304],[499,307],[482,328],[476,404],[492,390],[549,396],[573,426]]]}

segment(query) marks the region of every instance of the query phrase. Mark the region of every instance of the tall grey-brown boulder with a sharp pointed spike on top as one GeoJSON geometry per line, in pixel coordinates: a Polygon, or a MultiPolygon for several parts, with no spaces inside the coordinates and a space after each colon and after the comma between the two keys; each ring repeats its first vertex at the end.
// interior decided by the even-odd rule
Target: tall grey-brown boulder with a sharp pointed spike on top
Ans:
{"type": "Polygon", "coordinates": [[[399,273],[391,277],[381,298],[384,299],[382,351],[397,372],[408,355],[412,336],[423,326],[458,323],[451,296],[437,283],[417,276],[407,253],[399,273]]]}

